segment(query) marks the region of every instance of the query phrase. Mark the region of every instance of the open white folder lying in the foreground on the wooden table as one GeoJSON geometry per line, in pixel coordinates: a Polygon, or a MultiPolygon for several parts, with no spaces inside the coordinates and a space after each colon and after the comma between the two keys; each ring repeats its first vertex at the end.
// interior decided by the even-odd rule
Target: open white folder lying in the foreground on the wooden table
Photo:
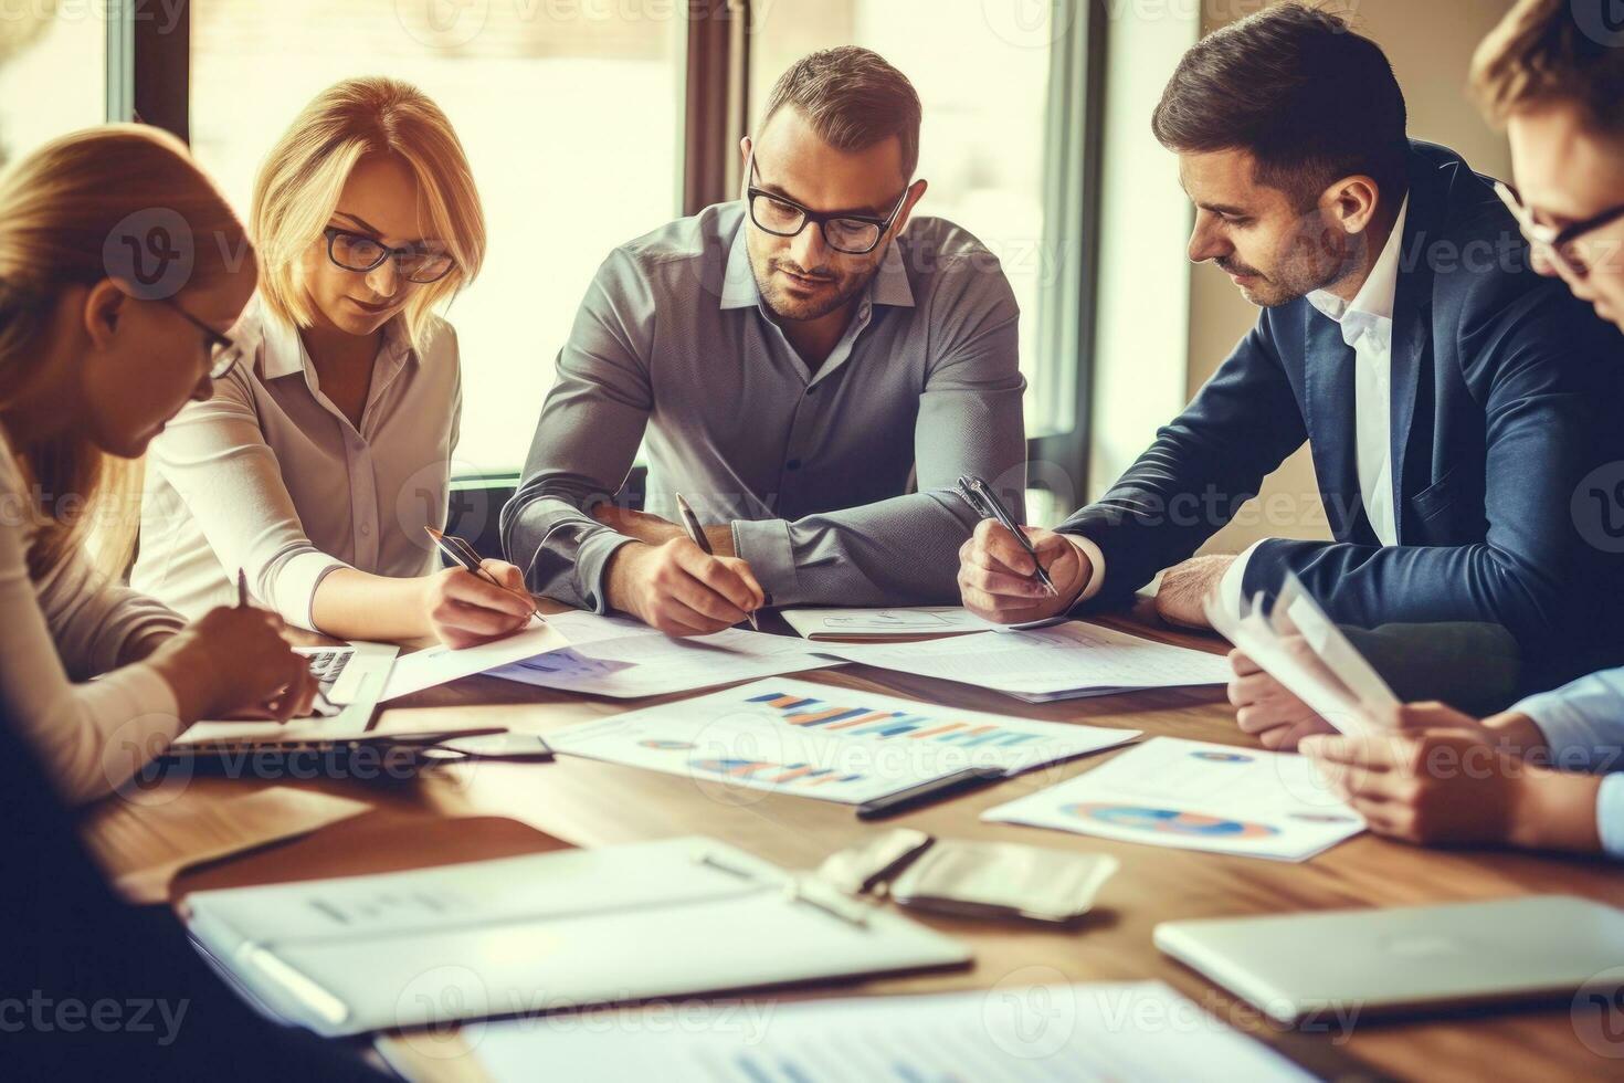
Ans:
{"type": "Polygon", "coordinates": [[[195,891],[185,909],[250,999],[326,1036],[970,961],[708,838],[195,891]]]}

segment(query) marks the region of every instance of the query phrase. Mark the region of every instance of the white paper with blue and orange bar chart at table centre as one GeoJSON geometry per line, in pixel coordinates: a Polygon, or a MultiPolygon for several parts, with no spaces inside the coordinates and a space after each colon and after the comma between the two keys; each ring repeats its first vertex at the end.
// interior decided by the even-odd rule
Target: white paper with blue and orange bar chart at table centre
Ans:
{"type": "Polygon", "coordinates": [[[1134,729],[1034,723],[916,700],[758,680],[547,734],[560,755],[695,781],[862,804],[973,766],[1007,774],[1111,749],[1134,729]]]}

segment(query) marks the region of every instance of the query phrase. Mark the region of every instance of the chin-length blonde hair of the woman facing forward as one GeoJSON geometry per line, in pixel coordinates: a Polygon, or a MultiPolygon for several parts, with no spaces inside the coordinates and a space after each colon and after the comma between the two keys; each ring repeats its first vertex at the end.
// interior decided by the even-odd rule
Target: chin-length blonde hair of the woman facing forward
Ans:
{"type": "Polygon", "coordinates": [[[417,286],[406,304],[406,328],[417,343],[435,305],[479,274],[486,216],[451,122],[422,91],[398,80],[330,86],[271,148],[253,183],[253,239],[265,263],[260,294],[294,326],[315,321],[300,281],[304,253],[326,229],[349,174],[372,154],[398,157],[411,169],[427,205],[429,234],[456,260],[445,278],[417,286]]]}

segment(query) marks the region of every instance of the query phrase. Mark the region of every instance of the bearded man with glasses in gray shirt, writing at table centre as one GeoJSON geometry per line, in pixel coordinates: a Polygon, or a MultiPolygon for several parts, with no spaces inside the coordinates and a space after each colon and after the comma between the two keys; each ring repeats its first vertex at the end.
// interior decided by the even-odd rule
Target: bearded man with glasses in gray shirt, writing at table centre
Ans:
{"type": "Polygon", "coordinates": [[[741,143],[745,198],[615,248],[559,354],[502,542],[531,589],[702,635],[773,604],[958,598],[979,474],[1020,513],[1015,297],[914,219],[919,99],[864,49],[812,54],[741,143]],[[643,513],[612,497],[648,442],[643,513]],[[918,492],[908,492],[918,471],[918,492]],[[693,505],[716,554],[676,524],[693,505]]]}

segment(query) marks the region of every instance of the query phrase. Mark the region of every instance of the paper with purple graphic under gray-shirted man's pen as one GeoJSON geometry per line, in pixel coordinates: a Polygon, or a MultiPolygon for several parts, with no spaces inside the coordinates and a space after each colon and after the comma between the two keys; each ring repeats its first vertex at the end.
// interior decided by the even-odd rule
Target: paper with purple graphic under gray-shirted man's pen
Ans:
{"type": "Polygon", "coordinates": [[[672,638],[624,617],[559,614],[549,619],[570,646],[490,672],[542,688],[633,698],[692,692],[739,680],[840,666],[806,640],[728,628],[672,638]]]}

